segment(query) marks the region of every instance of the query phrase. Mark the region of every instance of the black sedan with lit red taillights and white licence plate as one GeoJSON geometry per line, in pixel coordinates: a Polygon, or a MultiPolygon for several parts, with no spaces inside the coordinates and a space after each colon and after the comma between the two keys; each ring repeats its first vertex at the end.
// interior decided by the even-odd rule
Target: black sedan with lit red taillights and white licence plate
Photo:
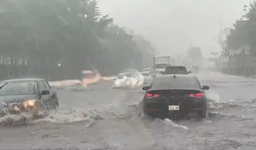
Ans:
{"type": "Polygon", "coordinates": [[[143,113],[161,119],[169,117],[188,117],[196,114],[205,118],[208,86],[200,86],[194,75],[161,75],[155,77],[146,91],[142,101],[143,113]]]}

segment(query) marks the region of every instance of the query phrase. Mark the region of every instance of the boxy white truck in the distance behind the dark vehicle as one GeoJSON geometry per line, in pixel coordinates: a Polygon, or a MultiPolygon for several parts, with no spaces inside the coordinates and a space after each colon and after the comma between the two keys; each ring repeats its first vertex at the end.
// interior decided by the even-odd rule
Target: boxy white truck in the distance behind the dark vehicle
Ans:
{"type": "Polygon", "coordinates": [[[154,70],[164,71],[166,66],[173,66],[174,59],[171,56],[155,56],[154,57],[154,70]]]}

